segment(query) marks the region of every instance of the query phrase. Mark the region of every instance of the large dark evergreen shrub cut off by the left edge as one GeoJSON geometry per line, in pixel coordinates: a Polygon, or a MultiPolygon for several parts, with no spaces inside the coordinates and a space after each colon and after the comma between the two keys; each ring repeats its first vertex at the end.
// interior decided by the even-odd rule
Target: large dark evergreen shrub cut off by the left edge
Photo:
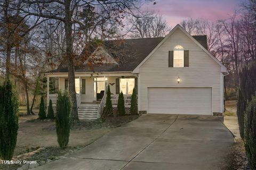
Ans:
{"type": "Polygon", "coordinates": [[[0,86],[0,158],[11,160],[17,142],[19,101],[10,80],[0,86]]]}

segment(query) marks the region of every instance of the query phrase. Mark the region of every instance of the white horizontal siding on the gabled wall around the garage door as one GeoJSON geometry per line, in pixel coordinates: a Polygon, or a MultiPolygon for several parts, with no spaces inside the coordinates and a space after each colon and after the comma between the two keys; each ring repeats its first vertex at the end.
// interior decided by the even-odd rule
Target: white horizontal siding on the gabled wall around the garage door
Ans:
{"type": "Polygon", "coordinates": [[[220,65],[177,29],[140,67],[140,111],[148,110],[148,87],[211,87],[213,112],[222,112],[220,72],[220,65]],[[168,67],[168,53],[177,45],[189,50],[189,67],[168,67]]]}

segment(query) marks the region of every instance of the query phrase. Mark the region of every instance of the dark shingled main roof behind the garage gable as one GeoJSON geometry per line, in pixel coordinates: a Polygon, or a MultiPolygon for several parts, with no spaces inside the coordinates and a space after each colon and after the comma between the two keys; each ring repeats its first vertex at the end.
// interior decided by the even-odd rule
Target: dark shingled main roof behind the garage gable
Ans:
{"type": "MultiPolygon", "coordinates": [[[[87,64],[75,66],[75,72],[136,72],[138,69],[154,52],[161,46],[164,41],[171,36],[175,29],[180,27],[176,26],[166,37],[159,38],[137,38],[137,39],[123,39],[122,43],[116,43],[120,40],[107,40],[102,44],[110,55],[117,61],[117,63],[105,63],[100,65],[94,65],[93,70],[87,64]],[[117,45],[118,44],[118,45],[117,45]],[[113,50],[114,49],[114,50],[113,50]],[[114,51],[124,50],[126,56],[124,61],[119,61],[119,55],[114,51]]],[[[190,35],[189,35],[190,36],[190,35]]],[[[199,44],[207,52],[207,37],[206,36],[190,36],[197,44],[199,44]]],[[[95,47],[93,50],[90,49],[93,54],[97,50],[95,47]]],[[[209,52],[208,52],[209,53],[209,52]]],[[[210,53],[209,53],[210,54],[210,53]]],[[[122,54],[123,55],[123,54],[122,54]]],[[[214,57],[215,58],[215,57],[214,57]]],[[[216,59],[216,58],[215,58],[216,59]]],[[[217,59],[216,59],[217,60],[217,59]]],[[[68,72],[67,65],[62,64],[58,69],[50,71],[51,73],[56,72],[68,72]]]]}

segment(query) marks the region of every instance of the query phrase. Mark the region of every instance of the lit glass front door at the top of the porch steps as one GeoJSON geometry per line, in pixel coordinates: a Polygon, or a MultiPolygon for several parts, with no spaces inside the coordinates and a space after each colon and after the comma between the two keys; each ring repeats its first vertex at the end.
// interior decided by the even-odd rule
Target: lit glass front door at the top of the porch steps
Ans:
{"type": "Polygon", "coordinates": [[[93,97],[94,101],[101,100],[105,92],[105,78],[93,79],[93,97]]]}

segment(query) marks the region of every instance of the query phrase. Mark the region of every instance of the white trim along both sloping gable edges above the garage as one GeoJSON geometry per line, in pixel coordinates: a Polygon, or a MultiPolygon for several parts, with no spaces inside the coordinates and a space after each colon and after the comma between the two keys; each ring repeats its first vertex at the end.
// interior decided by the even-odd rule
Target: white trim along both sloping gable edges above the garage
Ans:
{"type": "Polygon", "coordinates": [[[180,29],[183,33],[185,33],[185,35],[187,35],[191,40],[194,41],[194,43],[196,43],[200,48],[202,48],[204,50],[204,52],[206,54],[208,54],[217,64],[219,64],[221,66],[221,72],[227,72],[227,68],[217,59],[215,58],[206,48],[204,48],[204,46],[201,44],[203,41],[202,37],[197,37],[199,38],[201,41],[201,43],[199,43],[199,41],[196,40],[196,37],[191,36],[183,27],[181,27],[179,24],[177,24],[172,30],[171,32],[161,41],[161,43],[159,43],[156,48],[154,48],[154,50],[152,50],[149,55],[133,70],[133,73],[139,73],[139,67],[144,64],[148,58],[153,55],[156,50],[175,32],[175,30],[180,29]]]}

